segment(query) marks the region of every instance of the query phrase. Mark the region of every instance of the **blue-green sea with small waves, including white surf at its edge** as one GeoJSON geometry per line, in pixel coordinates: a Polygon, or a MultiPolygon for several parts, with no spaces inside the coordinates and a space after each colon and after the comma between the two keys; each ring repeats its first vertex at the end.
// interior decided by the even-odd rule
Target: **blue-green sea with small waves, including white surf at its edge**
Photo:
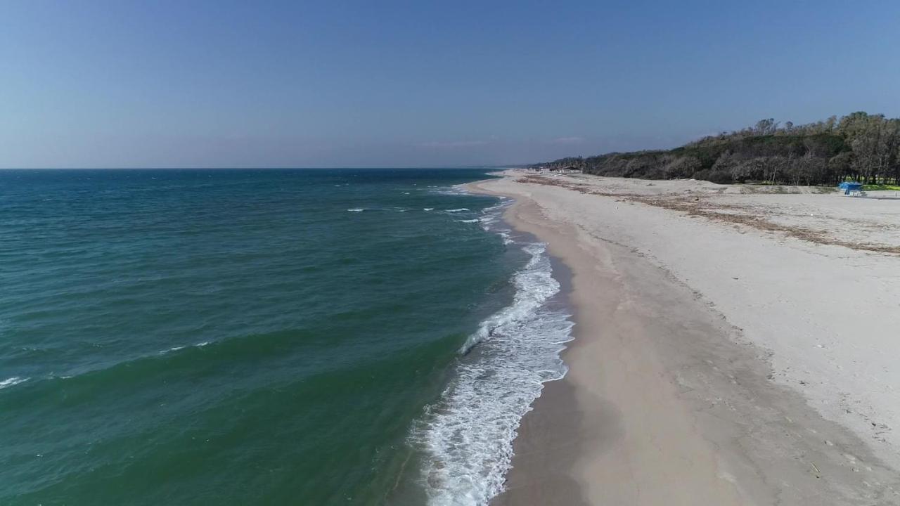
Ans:
{"type": "Polygon", "coordinates": [[[487,504],[572,339],[488,172],[0,170],[0,504],[487,504]]]}

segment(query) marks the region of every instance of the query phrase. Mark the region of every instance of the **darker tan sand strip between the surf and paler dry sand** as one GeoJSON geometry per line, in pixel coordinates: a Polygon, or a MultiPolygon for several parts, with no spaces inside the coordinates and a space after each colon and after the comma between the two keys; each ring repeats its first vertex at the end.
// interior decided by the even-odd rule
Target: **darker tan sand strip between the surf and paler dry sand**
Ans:
{"type": "Polygon", "coordinates": [[[583,212],[561,203],[576,192],[534,186],[467,185],[515,199],[504,220],[571,269],[576,322],[569,373],[523,418],[492,504],[900,503],[896,472],[772,382],[766,350],[702,294],[622,238],[558,219],[583,212]]]}

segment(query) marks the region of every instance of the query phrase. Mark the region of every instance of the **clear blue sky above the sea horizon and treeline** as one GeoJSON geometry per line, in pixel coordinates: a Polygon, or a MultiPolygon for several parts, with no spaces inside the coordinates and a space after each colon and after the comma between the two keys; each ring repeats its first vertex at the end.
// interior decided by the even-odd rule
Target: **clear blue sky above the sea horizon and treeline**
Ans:
{"type": "Polygon", "coordinates": [[[410,167],[900,115],[900,2],[0,3],[0,167],[410,167]]]}

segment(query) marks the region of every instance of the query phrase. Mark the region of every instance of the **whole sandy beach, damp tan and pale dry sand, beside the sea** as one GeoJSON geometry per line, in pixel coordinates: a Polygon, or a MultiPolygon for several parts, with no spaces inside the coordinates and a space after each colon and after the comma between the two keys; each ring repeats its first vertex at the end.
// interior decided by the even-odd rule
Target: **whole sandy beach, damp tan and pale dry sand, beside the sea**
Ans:
{"type": "Polygon", "coordinates": [[[514,171],[470,189],[516,199],[576,321],[495,504],[900,504],[900,201],[514,171]]]}

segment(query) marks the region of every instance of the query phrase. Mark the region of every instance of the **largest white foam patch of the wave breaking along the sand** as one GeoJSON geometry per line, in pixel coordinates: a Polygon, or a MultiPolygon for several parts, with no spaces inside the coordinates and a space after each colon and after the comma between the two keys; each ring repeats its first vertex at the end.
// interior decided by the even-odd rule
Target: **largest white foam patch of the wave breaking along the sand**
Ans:
{"type": "Polygon", "coordinates": [[[455,379],[413,429],[413,444],[426,454],[429,504],[486,505],[502,492],[522,416],[545,382],[566,373],[559,354],[572,339],[572,321],[548,304],[560,285],[545,244],[522,249],[530,259],[513,276],[513,302],[466,340],[455,379]]]}

